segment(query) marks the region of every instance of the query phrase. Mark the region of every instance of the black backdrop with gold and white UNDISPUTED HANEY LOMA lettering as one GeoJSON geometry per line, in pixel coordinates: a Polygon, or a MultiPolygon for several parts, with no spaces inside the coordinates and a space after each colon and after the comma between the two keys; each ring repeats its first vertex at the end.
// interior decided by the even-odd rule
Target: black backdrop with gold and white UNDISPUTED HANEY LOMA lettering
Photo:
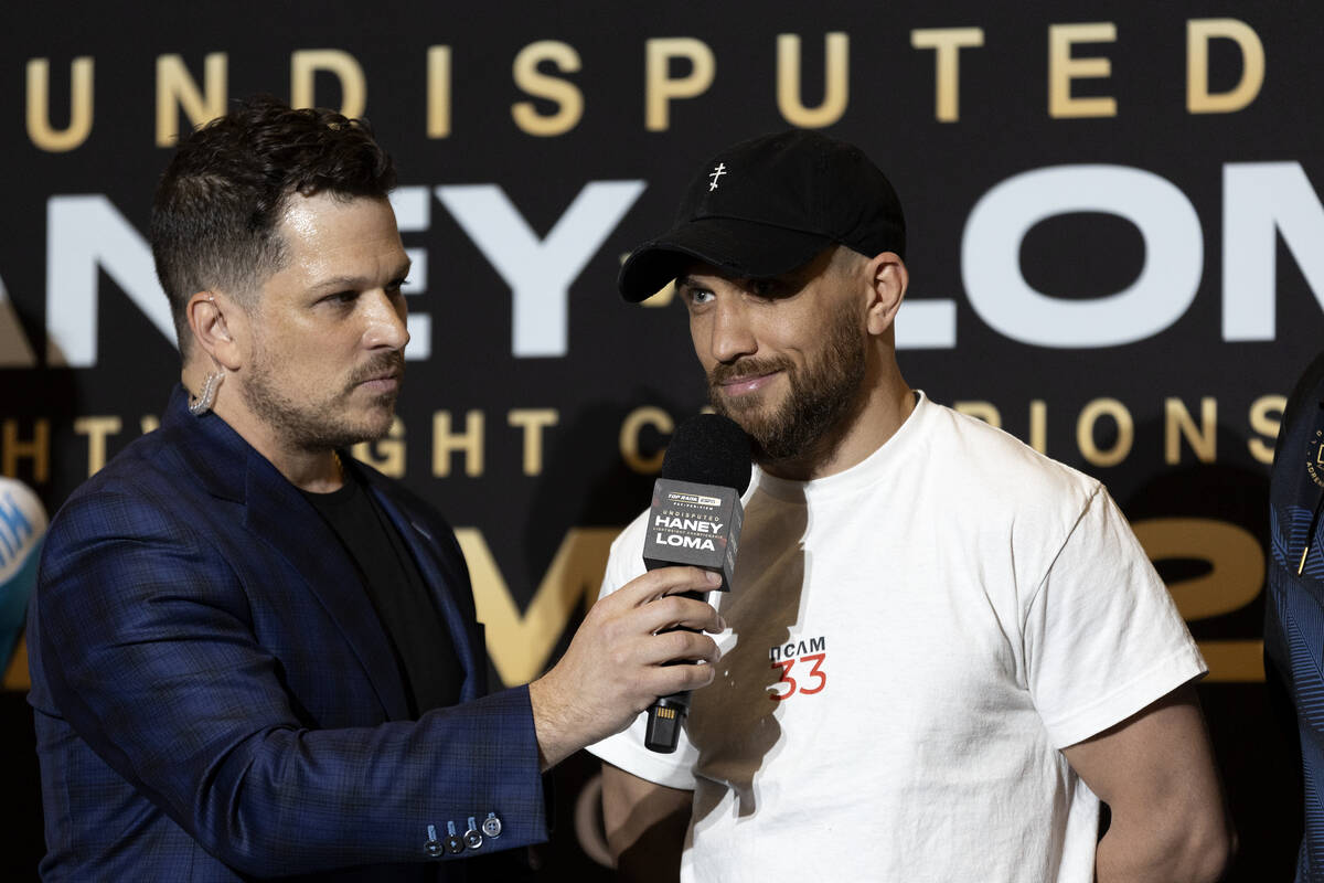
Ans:
{"type": "MultiPolygon", "coordinates": [[[[0,471],[53,511],[164,404],[143,237],[176,127],[257,91],[361,107],[417,266],[400,424],[363,455],[462,526],[494,669],[527,680],[703,404],[683,310],[622,303],[622,254],[716,148],[824,127],[907,207],[910,383],[1132,519],[1210,661],[1233,879],[1280,879],[1300,796],[1259,661],[1264,514],[1283,396],[1320,348],[1320,33],[1294,1],[7,9],[0,471]]],[[[41,853],[23,662],[0,692],[16,879],[41,853]]],[[[557,772],[553,879],[598,872],[591,770],[557,772]]]]}

